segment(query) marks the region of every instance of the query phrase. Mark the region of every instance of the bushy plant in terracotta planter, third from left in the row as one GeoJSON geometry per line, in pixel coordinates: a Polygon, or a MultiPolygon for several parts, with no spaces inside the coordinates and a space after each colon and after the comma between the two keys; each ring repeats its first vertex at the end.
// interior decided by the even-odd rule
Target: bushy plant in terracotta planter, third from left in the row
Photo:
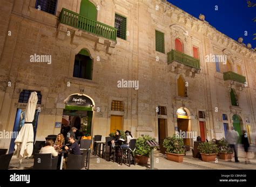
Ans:
{"type": "Polygon", "coordinates": [[[215,161],[219,151],[217,145],[212,143],[211,141],[200,143],[200,145],[198,146],[198,150],[204,162],[215,161]]]}

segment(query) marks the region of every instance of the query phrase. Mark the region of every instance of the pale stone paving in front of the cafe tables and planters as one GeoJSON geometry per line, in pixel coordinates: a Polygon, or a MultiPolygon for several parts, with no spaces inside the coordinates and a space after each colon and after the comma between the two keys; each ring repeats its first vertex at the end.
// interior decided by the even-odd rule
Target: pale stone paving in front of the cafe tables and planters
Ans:
{"type": "MultiPolygon", "coordinates": [[[[234,157],[232,161],[224,161],[218,159],[218,162],[203,162],[199,159],[194,159],[192,152],[187,152],[184,156],[184,161],[182,163],[177,163],[169,161],[166,159],[166,155],[161,154],[159,151],[154,152],[154,168],[155,169],[256,169],[256,157],[253,153],[250,154],[251,163],[245,164],[245,159],[243,156],[244,152],[239,149],[239,163],[234,162],[234,157]]],[[[21,169],[31,169],[33,166],[33,159],[24,159],[21,169]]],[[[18,169],[17,159],[13,158],[10,163],[10,169],[18,169]]],[[[150,159],[147,165],[136,166],[131,165],[131,167],[126,165],[120,165],[115,162],[107,162],[99,156],[91,155],[90,169],[149,169],[150,159]]]]}

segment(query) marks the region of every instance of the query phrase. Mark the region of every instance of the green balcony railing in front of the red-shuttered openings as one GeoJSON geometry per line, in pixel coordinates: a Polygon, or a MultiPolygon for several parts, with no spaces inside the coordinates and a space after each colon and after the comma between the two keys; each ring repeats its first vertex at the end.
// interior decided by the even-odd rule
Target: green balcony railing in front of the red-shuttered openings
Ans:
{"type": "Polygon", "coordinates": [[[173,61],[183,63],[184,65],[190,66],[192,68],[200,69],[199,59],[196,59],[190,55],[187,55],[172,49],[172,51],[167,53],[167,62],[169,64],[173,61]]]}

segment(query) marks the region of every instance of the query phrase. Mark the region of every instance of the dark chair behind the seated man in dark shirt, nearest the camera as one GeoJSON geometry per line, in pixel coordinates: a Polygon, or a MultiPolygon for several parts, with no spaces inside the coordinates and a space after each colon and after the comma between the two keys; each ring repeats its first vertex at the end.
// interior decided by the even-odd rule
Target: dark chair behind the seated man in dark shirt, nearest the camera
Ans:
{"type": "Polygon", "coordinates": [[[84,151],[83,155],[69,154],[66,169],[76,169],[76,170],[83,169],[84,162],[86,159],[86,154],[87,154],[86,151],[84,151]]]}

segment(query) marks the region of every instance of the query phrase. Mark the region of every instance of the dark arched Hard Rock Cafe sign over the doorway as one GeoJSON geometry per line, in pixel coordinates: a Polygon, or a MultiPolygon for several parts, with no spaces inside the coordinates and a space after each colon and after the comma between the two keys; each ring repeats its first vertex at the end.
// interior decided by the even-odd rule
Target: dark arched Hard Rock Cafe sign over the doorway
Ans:
{"type": "Polygon", "coordinates": [[[86,106],[86,107],[92,107],[93,103],[92,100],[85,96],[85,95],[70,95],[68,98],[65,99],[64,103],[66,105],[72,105],[72,106],[86,106]]]}

